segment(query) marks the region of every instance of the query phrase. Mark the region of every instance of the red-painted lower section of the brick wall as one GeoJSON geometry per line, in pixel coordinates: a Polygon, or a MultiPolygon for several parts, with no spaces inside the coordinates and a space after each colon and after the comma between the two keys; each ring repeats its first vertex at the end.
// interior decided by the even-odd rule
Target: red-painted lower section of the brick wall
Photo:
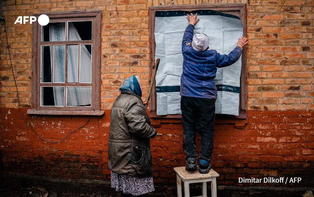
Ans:
{"type": "MultiPolygon", "coordinates": [[[[42,138],[62,139],[84,124],[88,116],[29,116],[26,119],[42,138]]],[[[1,109],[1,151],[3,171],[75,179],[109,180],[107,142],[110,110],[93,117],[82,129],[60,143],[41,140],[25,125],[18,109],[1,109]]],[[[156,119],[153,119],[156,125],[156,119]]],[[[267,186],[311,186],[313,184],[312,111],[249,111],[248,123],[216,124],[213,168],[221,185],[239,184],[238,177],[301,177],[299,184],[267,186]]],[[[173,167],[184,166],[182,124],[178,119],[160,121],[162,137],[151,140],[156,183],[175,183],[173,167]],[[169,123],[167,123],[169,122],[169,123]]],[[[199,139],[197,148],[199,149],[199,139]]],[[[256,186],[256,184],[251,184],[256,186]]]]}

